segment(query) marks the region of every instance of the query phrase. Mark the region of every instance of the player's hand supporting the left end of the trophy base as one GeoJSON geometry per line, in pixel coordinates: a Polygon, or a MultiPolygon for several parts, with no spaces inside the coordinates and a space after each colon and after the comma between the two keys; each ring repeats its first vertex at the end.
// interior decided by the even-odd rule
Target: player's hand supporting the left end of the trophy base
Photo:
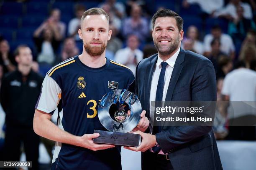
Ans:
{"type": "Polygon", "coordinates": [[[104,150],[108,148],[114,148],[115,145],[107,145],[107,144],[97,144],[93,143],[93,138],[98,138],[100,136],[99,133],[93,134],[84,134],[83,136],[79,137],[79,146],[83,148],[87,148],[93,151],[96,150],[104,150]]]}

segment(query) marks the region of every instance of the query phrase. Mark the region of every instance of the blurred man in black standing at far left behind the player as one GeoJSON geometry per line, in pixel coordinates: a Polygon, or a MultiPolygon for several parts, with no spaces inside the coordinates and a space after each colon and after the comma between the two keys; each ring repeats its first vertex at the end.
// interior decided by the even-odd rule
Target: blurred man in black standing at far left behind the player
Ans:
{"type": "Polygon", "coordinates": [[[43,78],[31,70],[32,52],[26,45],[15,50],[17,70],[3,78],[0,102],[5,111],[5,161],[20,160],[24,144],[26,160],[38,169],[39,136],[33,131],[33,115],[43,78]]]}

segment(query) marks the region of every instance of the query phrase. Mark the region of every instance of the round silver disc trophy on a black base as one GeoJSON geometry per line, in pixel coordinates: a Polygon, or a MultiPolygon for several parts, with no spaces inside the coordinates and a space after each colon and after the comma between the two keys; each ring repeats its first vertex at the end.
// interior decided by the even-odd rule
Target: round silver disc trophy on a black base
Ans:
{"type": "Polygon", "coordinates": [[[93,142],[138,147],[141,136],[128,132],[138,125],[141,112],[141,103],[134,93],[126,89],[108,92],[100,100],[98,117],[109,131],[94,130],[94,133],[99,133],[100,136],[94,138],[93,142]],[[131,111],[129,116],[128,110],[131,111]]]}

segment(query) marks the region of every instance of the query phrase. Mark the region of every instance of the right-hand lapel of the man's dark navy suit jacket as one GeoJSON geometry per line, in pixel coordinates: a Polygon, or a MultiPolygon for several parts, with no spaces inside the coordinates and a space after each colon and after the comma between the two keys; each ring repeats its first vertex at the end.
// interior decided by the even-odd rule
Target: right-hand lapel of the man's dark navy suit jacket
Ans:
{"type": "MultiPolygon", "coordinates": [[[[172,100],[174,87],[176,86],[176,83],[179,79],[179,75],[180,75],[180,73],[182,71],[182,68],[183,68],[182,63],[184,62],[184,57],[185,57],[185,52],[181,48],[180,52],[179,52],[179,55],[178,55],[178,57],[175,61],[175,64],[174,64],[174,68],[173,68],[173,71],[172,71],[172,77],[171,77],[170,82],[169,82],[169,86],[168,86],[168,90],[167,90],[167,93],[166,93],[165,101],[171,101],[172,100]]],[[[167,116],[167,113],[164,112],[163,117],[166,117],[166,116],[167,116]]],[[[164,125],[164,123],[163,123],[163,125],[164,125]]],[[[163,127],[164,126],[162,126],[162,128],[163,127]]]]}

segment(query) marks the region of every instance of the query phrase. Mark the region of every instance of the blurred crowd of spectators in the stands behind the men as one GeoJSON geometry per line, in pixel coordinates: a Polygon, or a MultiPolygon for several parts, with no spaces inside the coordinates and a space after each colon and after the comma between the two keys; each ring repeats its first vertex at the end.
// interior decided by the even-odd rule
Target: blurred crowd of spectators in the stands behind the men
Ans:
{"type": "MultiPolygon", "coordinates": [[[[82,14],[90,7],[101,7],[110,16],[112,37],[106,57],[127,65],[135,73],[140,60],[157,53],[151,36],[152,15],[158,9],[169,8],[184,19],[182,48],[212,61],[218,101],[256,101],[254,0],[0,2],[0,85],[4,76],[17,69],[14,50],[18,45],[30,47],[33,54],[31,68],[41,76],[59,62],[81,54],[83,44],[77,32],[82,14]]],[[[242,135],[238,135],[228,127],[225,117],[217,117],[220,120],[215,127],[218,139],[256,139],[255,127],[254,130],[238,127],[235,132],[242,129],[242,135]],[[244,131],[251,133],[244,134],[244,131]]]]}

